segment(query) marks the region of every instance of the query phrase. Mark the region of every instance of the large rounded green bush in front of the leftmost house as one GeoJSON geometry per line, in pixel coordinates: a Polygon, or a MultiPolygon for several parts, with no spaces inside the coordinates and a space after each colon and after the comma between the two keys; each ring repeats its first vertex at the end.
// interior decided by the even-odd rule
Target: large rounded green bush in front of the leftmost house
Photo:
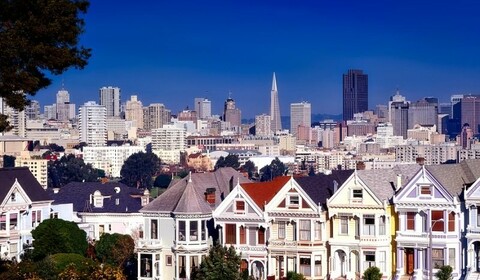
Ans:
{"type": "Polygon", "coordinates": [[[34,260],[57,253],[85,255],[87,234],[76,223],[62,219],[48,219],[32,230],[34,260]]]}

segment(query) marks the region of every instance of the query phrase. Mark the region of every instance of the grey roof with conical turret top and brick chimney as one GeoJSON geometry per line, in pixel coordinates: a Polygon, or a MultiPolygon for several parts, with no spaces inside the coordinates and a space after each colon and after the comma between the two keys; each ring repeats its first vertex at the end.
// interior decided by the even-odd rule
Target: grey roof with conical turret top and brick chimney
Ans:
{"type": "MultiPolygon", "coordinates": [[[[208,213],[212,212],[212,209],[216,208],[220,202],[230,193],[230,190],[235,187],[237,182],[250,182],[241,173],[237,172],[231,167],[219,168],[214,172],[208,173],[193,173],[187,176],[175,184],[170,185],[168,189],[162,193],[155,200],[142,208],[142,212],[182,212],[189,211],[188,203],[192,200],[196,200],[196,203],[200,203],[200,200],[205,200],[205,192],[207,189],[215,189],[215,205],[209,205],[208,213]],[[190,197],[186,194],[186,188],[188,181],[191,179],[191,188],[195,191],[189,190],[190,197]],[[182,202],[182,203],[180,203],[182,202]]],[[[200,208],[204,208],[200,204],[200,208]]],[[[206,210],[206,209],[204,209],[206,210]]],[[[195,212],[197,213],[197,212],[195,212]]]]}

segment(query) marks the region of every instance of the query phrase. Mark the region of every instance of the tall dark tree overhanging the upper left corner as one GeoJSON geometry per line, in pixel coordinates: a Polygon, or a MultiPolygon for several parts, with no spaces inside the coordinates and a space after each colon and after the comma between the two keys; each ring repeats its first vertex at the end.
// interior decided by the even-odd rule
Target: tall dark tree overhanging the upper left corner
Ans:
{"type": "MultiPolygon", "coordinates": [[[[0,97],[23,110],[28,96],[70,67],[82,69],[90,49],[79,45],[87,0],[0,1],[0,97]]],[[[0,115],[0,131],[8,130],[0,115]]]]}

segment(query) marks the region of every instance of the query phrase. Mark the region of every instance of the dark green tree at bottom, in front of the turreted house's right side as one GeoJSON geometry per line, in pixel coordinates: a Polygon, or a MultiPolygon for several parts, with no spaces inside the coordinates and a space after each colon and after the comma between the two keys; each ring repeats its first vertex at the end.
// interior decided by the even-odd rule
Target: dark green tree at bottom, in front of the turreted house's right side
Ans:
{"type": "Polygon", "coordinates": [[[192,274],[193,280],[241,279],[241,258],[233,247],[214,245],[208,256],[200,264],[199,270],[192,274]]]}

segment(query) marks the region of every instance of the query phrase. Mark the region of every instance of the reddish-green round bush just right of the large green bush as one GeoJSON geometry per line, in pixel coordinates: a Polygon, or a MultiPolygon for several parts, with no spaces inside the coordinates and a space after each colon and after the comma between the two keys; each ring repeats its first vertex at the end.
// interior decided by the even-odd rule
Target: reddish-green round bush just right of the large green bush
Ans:
{"type": "Polygon", "coordinates": [[[125,262],[133,257],[135,242],[130,235],[104,233],[95,243],[97,258],[110,265],[123,267],[125,262]]]}

